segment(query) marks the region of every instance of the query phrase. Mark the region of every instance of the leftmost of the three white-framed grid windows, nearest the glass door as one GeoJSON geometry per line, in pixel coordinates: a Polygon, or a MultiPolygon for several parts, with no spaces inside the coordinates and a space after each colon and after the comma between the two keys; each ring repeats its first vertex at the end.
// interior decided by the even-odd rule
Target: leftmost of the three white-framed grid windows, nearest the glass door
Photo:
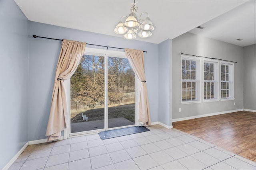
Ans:
{"type": "Polygon", "coordinates": [[[200,60],[182,58],[182,102],[200,100],[200,60]]]}

